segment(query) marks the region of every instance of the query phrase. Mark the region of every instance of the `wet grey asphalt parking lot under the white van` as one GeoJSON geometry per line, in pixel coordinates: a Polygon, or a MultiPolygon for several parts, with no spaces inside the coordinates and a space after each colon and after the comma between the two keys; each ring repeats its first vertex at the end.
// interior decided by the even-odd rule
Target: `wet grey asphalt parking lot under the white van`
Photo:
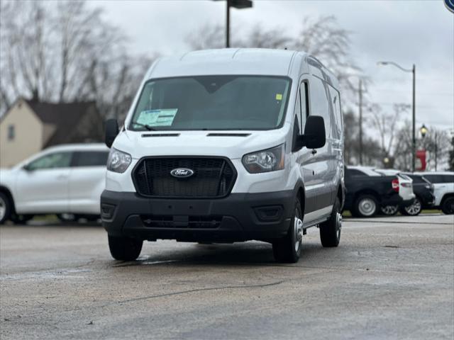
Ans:
{"type": "Polygon", "coordinates": [[[0,227],[0,338],[453,339],[454,216],[316,228],[298,263],[270,244],[144,244],[111,259],[99,226],[0,227]]]}

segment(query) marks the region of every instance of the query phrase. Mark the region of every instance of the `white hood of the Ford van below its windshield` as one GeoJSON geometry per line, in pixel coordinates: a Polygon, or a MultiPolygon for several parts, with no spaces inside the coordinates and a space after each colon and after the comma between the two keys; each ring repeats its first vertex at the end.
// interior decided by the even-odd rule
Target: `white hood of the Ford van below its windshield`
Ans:
{"type": "Polygon", "coordinates": [[[146,156],[219,156],[244,154],[285,142],[287,129],[266,131],[122,131],[113,147],[135,159],[146,156]]]}

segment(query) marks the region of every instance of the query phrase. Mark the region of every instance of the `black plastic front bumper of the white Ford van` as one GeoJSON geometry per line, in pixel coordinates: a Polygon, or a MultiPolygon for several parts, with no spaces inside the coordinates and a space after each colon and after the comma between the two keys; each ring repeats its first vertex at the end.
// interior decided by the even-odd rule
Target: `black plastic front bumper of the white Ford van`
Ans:
{"type": "Polygon", "coordinates": [[[283,237],[294,191],[231,193],[216,199],[157,199],[104,191],[101,218],[112,236],[184,242],[268,241],[283,237]]]}

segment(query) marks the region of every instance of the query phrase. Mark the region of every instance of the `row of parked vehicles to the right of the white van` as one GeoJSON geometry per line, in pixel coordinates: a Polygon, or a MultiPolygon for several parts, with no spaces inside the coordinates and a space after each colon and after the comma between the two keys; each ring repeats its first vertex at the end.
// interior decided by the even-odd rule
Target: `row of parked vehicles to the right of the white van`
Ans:
{"type": "Polygon", "coordinates": [[[405,173],[366,166],[345,167],[345,205],[355,217],[416,216],[423,209],[454,213],[454,173],[405,173]],[[434,183],[432,183],[433,181],[434,183]]]}

